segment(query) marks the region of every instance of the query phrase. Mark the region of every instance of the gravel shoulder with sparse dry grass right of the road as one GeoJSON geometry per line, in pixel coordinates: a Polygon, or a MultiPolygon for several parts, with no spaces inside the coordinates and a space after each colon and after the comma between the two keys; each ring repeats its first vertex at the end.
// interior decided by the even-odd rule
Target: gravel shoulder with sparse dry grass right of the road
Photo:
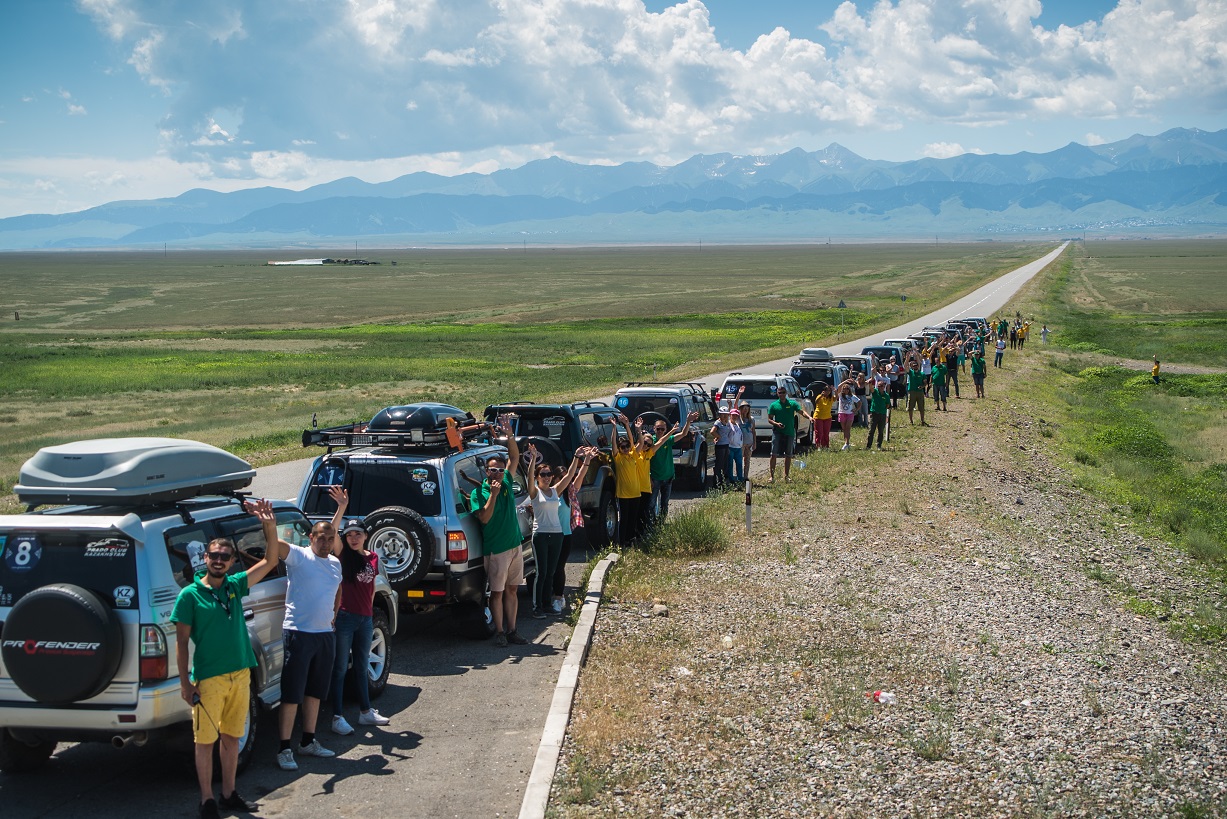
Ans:
{"type": "Polygon", "coordinates": [[[1221,647],[1114,591],[1175,607],[1196,571],[1074,486],[1018,388],[1039,357],[897,411],[883,453],[804,456],[717,557],[626,555],[551,814],[1227,813],[1221,647]]]}

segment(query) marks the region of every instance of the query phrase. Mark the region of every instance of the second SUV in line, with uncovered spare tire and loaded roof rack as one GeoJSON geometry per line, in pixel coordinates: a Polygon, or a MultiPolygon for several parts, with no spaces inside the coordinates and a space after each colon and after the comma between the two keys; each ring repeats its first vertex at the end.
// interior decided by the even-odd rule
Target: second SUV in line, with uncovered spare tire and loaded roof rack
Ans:
{"type": "MultiPolygon", "coordinates": [[[[362,521],[396,599],[415,610],[454,605],[474,636],[493,634],[481,524],[469,497],[485,479],[487,458],[507,457],[490,443],[490,425],[448,404],[389,406],[369,421],[303,431],[303,446],[326,447],[298,490],[313,521],[336,511],[328,487],[350,494],[346,518],[362,521]]],[[[526,576],[535,572],[528,497],[514,473],[520,549],[526,576]]]]}

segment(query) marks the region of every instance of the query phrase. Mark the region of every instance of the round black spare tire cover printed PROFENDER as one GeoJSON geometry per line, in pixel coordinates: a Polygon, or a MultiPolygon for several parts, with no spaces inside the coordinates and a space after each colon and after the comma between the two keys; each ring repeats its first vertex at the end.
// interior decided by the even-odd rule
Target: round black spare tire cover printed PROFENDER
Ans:
{"type": "Polygon", "coordinates": [[[43,586],[17,600],[0,637],[12,681],[49,705],[98,695],[124,653],[123,630],[110,607],[71,583],[43,586]]]}

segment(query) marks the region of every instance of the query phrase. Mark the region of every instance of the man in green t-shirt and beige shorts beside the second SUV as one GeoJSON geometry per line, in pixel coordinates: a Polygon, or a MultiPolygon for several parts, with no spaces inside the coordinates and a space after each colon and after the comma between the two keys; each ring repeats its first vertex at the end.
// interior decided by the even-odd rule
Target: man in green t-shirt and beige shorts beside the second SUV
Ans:
{"type": "Polygon", "coordinates": [[[499,419],[496,431],[507,436],[507,458],[486,458],[486,480],[472,490],[472,513],[481,522],[482,554],[490,581],[490,613],[494,620],[494,645],[528,642],[515,631],[519,591],[524,581],[524,535],[515,516],[515,486],[512,468],[520,463],[520,448],[507,419],[499,419]]]}

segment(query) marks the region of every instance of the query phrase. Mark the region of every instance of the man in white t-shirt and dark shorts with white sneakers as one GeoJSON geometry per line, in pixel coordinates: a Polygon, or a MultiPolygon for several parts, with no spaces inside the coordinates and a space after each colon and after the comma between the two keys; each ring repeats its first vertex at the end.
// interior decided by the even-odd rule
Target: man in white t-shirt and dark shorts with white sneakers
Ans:
{"type": "Polygon", "coordinates": [[[336,610],[341,605],[341,561],[336,524],[320,521],[310,530],[310,548],[280,541],[290,584],[286,587],[286,618],[281,624],[285,662],[281,667],[281,747],[277,765],[298,770],[294,753],[303,756],[336,756],[315,739],[319,704],[328,696],[336,658],[336,610]],[[303,736],[293,748],[298,706],[303,712],[303,736]]]}

